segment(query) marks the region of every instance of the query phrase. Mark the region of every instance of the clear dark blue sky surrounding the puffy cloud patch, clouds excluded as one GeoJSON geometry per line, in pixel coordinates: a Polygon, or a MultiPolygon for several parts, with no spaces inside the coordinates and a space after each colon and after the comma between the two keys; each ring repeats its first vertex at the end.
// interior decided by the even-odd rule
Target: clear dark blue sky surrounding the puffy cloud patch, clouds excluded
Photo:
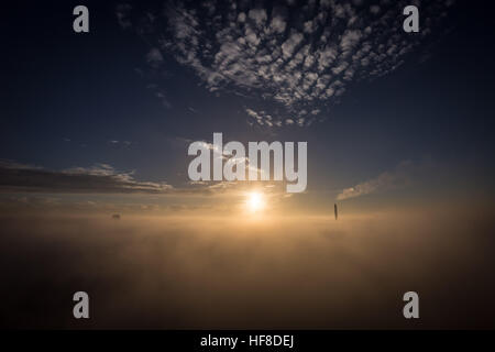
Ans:
{"type": "MultiPolygon", "coordinates": [[[[444,173],[452,189],[465,183],[494,190],[494,30],[485,3],[449,8],[433,33],[383,77],[351,80],[339,99],[304,102],[321,109],[324,121],[270,128],[246,113],[277,109],[261,99],[264,87],[210,91],[174,50],[161,51],[160,67],[150,65],[160,28],[140,35],[136,20],[122,29],[117,2],[87,2],[90,33],[76,34],[76,4],[22,2],[6,10],[2,160],[48,169],[102,163],[178,185],[188,163],[180,141],[223,132],[227,141],[308,141],[308,190],[334,195],[404,161],[433,163],[430,176],[444,173]]],[[[136,19],[147,7],[161,8],[141,3],[136,19]]]]}

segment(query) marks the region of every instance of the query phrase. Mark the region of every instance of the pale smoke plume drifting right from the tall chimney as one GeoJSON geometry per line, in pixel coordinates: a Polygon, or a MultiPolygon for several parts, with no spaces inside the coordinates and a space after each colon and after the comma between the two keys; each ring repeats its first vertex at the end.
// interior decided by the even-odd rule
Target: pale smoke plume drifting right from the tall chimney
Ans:
{"type": "Polygon", "coordinates": [[[406,187],[411,183],[411,176],[419,167],[420,165],[417,165],[410,161],[402,162],[393,170],[384,172],[375,178],[343,189],[337,196],[337,199],[345,200],[406,187]]]}

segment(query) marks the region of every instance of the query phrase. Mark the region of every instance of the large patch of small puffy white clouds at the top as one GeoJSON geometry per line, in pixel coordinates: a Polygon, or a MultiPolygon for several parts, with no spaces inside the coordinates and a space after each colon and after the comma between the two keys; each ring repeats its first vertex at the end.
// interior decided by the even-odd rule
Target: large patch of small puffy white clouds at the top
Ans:
{"type": "MultiPolygon", "coordinates": [[[[435,33],[453,1],[170,1],[119,4],[123,29],[193,70],[206,89],[253,99],[250,124],[309,125],[331,113],[351,85],[389,74],[435,33]],[[403,31],[403,9],[420,10],[420,32],[403,31]],[[262,107],[262,108],[260,108],[262,107]]],[[[157,59],[160,58],[160,59],[157,59]]]]}

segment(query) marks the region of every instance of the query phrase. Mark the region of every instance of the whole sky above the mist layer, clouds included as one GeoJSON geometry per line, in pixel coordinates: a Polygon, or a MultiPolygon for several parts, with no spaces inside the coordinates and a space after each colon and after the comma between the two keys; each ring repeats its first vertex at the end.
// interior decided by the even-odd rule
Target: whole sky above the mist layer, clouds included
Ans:
{"type": "Polygon", "coordinates": [[[215,185],[190,185],[187,146],[222,132],[307,141],[295,198],[312,211],[492,195],[490,16],[415,3],[419,33],[396,1],[95,2],[89,33],[72,2],[13,6],[1,187],[201,193],[215,185]]]}

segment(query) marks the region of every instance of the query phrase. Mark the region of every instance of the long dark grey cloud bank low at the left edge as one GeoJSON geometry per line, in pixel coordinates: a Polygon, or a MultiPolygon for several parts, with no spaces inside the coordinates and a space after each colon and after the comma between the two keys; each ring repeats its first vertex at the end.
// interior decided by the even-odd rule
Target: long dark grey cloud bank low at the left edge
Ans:
{"type": "Polygon", "coordinates": [[[0,190],[13,193],[162,194],[166,183],[138,182],[133,173],[119,173],[107,164],[51,170],[32,165],[0,162],[0,190]]]}

